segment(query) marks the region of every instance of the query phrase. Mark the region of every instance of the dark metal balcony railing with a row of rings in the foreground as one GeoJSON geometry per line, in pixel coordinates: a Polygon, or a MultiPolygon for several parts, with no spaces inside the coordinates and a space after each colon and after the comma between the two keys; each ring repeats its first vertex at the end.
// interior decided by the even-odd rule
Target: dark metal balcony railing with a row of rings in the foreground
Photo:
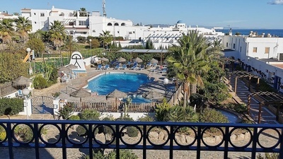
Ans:
{"type": "Polygon", "coordinates": [[[173,153],[175,151],[190,151],[195,153],[195,158],[202,158],[201,153],[211,151],[221,152],[223,154],[221,158],[229,158],[229,153],[241,152],[248,154],[251,158],[257,158],[257,153],[279,153],[279,158],[283,158],[283,126],[279,124],[2,119],[0,126],[6,131],[6,138],[0,141],[0,147],[8,148],[6,155],[9,155],[9,158],[15,158],[13,154],[15,148],[33,148],[35,158],[40,158],[41,148],[59,148],[62,151],[61,158],[68,158],[67,150],[71,148],[86,148],[90,158],[93,158],[93,148],[112,149],[116,151],[116,158],[120,158],[122,149],[140,150],[142,151],[140,158],[144,159],[147,158],[146,154],[152,150],[166,151],[168,158],[171,159],[175,158],[176,153],[173,153]],[[30,141],[22,141],[16,136],[16,126],[20,125],[27,125],[32,129],[33,136],[30,141]],[[79,125],[85,129],[85,136],[81,137],[82,140],[75,141],[70,138],[70,134],[74,136],[76,132],[74,126],[79,125]],[[127,135],[125,129],[127,130],[129,126],[137,129],[137,137],[130,138],[127,135]],[[209,133],[212,128],[214,128],[214,133],[212,131],[209,133]],[[42,137],[44,129],[57,132],[56,139],[51,142],[46,137],[42,137]],[[105,129],[108,131],[106,132],[105,129]],[[160,139],[161,131],[163,132],[162,139],[160,139]],[[97,134],[101,132],[110,134],[110,137],[106,139],[105,135],[105,140],[99,139],[97,134]],[[241,137],[244,140],[238,144],[237,139],[241,137]]]}

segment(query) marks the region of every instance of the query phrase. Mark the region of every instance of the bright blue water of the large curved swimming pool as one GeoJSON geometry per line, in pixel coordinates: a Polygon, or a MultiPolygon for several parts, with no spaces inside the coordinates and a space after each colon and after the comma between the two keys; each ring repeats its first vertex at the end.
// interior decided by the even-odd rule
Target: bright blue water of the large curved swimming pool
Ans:
{"type": "Polygon", "coordinates": [[[133,93],[139,86],[152,82],[143,73],[107,73],[88,81],[88,89],[98,95],[107,95],[117,89],[125,93],[133,93]]]}

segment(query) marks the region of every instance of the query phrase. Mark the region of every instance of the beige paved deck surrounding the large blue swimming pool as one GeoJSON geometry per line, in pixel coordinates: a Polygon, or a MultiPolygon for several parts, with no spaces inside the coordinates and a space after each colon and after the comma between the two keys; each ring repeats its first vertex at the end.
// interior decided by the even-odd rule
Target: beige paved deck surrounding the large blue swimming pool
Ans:
{"type": "MultiPolygon", "coordinates": [[[[166,78],[166,73],[159,71],[151,72],[150,69],[144,70],[130,70],[130,69],[113,69],[108,70],[96,70],[96,68],[86,68],[86,73],[79,73],[78,78],[71,79],[67,83],[57,83],[50,88],[42,90],[33,90],[33,96],[52,96],[52,93],[61,92],[60,99],[65,99],[69,102],[79,102],[80,98],[71,97],[69,94],[79,88],[87,86],[88,80],[97,76],[100,73],[108,72],[126,72],[126,73],[145,73],[149,78],[154,78],[154,82],[141,85],[135,94],[143,94],[149,90],[154,90],[159,93],[165,94],[165,86],[163,85],[163,79],[166,78]]],[[[169,81],[168,86],[174,85],[173,81],[169,81]]],[[[171,97],[172,93],[168,92],[167,98],[171,97]]],[[[105,95],[96,95],[92,93],[90,97],[81,98],[83,102],[107,102],[105,95]]]]}

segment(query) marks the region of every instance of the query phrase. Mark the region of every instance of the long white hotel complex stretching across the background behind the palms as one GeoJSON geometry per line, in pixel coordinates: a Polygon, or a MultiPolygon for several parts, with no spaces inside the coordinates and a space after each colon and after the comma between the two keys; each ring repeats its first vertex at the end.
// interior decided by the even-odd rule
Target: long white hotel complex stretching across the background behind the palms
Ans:
{"type": "Polygon", "coordinates": [[[115,18],[107,18],[101,16],[99,11],[93,11],[91,15],[87,13],[81,14],[78,11],[74,14],[74,10],[61,8],[48,9],[27,9],[21,10],[21,15],[28,17],[32,21],[33,32],[37,30],[49,30],[51,23],[54,20],[62,21],[65,25],[68,35],[73,35],[74,39],[79,36],[98,37],[100,33],[106,30],[114,37],[123,37],[120,41],[122,47],[127,45],[144,45],[147,40],[154,42],[154,47],[166,48],[177,42],[178,37],[182,33],[187,33],[187,30],[198,30],[210,40],[221,39],[224,33],[216,32],[213,28],[191,28],[187,27],[182,20],[173,26],[166,28],[150,28],[149,26],[134,26],[131,20],[120,20],[115,18]]]}

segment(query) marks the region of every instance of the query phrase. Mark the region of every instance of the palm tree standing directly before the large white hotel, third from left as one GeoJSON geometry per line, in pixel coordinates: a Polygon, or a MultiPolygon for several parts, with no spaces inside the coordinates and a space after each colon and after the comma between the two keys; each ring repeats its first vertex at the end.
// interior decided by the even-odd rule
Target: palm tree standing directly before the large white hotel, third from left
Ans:
{"type": "Polygon", "coordinates": [[[64,45],[64,40],[67,37],[65,32],[65,27],[59,20],[54,20],[54,23],[50,25],[50,41],[53,42],[54,47],[62,47],[64,45]]]}

